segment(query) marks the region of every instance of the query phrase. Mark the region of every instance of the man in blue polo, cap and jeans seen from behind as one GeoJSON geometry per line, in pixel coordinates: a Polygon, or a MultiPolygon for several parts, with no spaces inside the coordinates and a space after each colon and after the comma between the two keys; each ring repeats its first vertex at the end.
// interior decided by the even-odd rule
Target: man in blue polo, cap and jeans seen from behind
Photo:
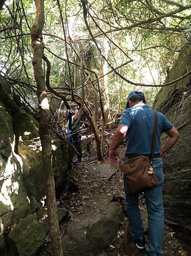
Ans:
{"type": "MultiPolygon", "coordinates": [[[[109,163],[115,164],[115,159],[119,156],[117,147],[126,141],[125,156],[145,155],[151,157],[151,147],[154,129],[154,112],[145,104],[145,95],[141,91],[131,91],[128,95],[129,108],[123,112],[119,126],[114,134],[109,150],[109,163]]],[[[164,237],[164,209],[162,203],[162,182],[164,175],[162,172],[161,156],[169,150],[177,141],[179,133],[177,129],[167,120],[165,115],[157,112],[158,125],[154,150],[153,167],[159,185],[155,188],[145,189],[145,202],[148,212],[148,241],[146,255],[162,256],[162,241],[164,237]],[[160,146],[160,135],[162,132],[168,134],[165,144],[160,146]]],[[[145,248],[144,228],[139,209],[139,193],[131,193],[128,189],[127,180],[124,176],[126,208],[128,221],[130,224],[131,236],[135,239],[136,246],[145,248]]]]}

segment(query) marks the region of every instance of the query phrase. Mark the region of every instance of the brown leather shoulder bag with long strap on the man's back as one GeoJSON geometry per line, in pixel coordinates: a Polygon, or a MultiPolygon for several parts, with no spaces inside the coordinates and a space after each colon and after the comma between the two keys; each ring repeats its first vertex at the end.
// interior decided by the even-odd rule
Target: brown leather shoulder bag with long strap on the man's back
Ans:
{"type": "Polygon", "coordinates": [[[157,176],[154,173],[154,168],[152,166],[157,135],[157,124],[157,111],[154,110],[154,131],[151,159],[149,159],[147,156],[136,156],[132,159],[129,159],[121,167],[125,177],[127,178],[128,188],[132,193],[142,191],[145,188],[153,188],[159,184],[157,176]]]}

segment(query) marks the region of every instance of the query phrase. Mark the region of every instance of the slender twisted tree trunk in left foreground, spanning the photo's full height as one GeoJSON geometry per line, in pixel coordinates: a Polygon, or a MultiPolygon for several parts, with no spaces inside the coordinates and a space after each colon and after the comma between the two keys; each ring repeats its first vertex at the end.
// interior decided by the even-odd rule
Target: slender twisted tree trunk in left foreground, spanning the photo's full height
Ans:
{"type": "Polygon", "coordinates": [[[48,131],[50,109],[46,96],[45,76],[42,69],[44,55],[42,30],[44,26],[44,0],[35,0],[37,13],[35,24],[31,27],[31,41],[34,51],[33,68],[37,83],[37,96],[40,108],[39,135],[42,144],[44,174],[46,180],[46,197],[48,206],[48,223],[54,256],[62,256],[61,237],[57,218],[54,176],[52,171],[51,139],[48,131]]]}

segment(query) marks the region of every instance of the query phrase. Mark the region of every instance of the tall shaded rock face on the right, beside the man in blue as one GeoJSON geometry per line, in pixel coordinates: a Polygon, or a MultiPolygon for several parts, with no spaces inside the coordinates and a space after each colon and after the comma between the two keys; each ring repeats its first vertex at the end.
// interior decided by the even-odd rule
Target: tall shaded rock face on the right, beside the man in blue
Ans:
{"type": "MultiPolygon", "coordinates": [[[[165,83],[191,70],[190,48],[187,45],[181,51],[165,83]]],[[[191,246],[191,77],[162,88],[154,101],[154,108],[165,114],[180,133],[175,146],[162,157],[165,174],[163,200],[167,223],[172,224],[180,238],[191,246]]],[[[162,135],[162,143],[166,137],[162,135]]]]}

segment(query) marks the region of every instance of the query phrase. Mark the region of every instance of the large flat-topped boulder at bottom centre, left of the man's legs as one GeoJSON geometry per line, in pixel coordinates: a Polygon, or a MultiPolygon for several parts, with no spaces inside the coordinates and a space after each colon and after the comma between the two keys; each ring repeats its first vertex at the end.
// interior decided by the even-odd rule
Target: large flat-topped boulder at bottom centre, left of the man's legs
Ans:
{"type": "Polygon", "coordinates": [[[68,225],[62,239],[65,256],[91,256],[112,242],[124,213],[120,203],[105,206],[96,215],[93,211],[78,215],[78,220],[68,225]]]}

